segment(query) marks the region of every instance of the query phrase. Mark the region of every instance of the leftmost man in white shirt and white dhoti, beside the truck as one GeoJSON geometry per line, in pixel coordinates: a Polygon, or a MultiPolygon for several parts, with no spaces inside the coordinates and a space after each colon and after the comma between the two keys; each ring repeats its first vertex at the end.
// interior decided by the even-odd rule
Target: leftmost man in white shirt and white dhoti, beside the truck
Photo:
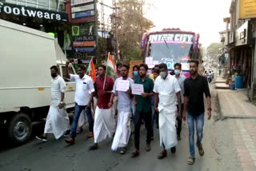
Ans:
{"type": "Polygon", "coordinates": [[[45,131],[38,140],[47,141],[47,134],[54,133],[58,139],[70,129],[70,120],[64,108],[65,81],[58,75],[58,67],[50,67],[51,77],[51,102],[49,113],[46,118],[45,131]]]}

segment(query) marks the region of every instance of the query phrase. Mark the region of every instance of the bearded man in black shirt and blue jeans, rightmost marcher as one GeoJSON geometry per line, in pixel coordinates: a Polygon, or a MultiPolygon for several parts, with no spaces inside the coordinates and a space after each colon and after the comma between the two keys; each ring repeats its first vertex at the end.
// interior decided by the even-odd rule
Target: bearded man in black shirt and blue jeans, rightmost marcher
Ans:
{"type": "Polygon", "coordinates": [[[206,94],[207,115],[208,120],[211,117],[210,107],[210,89],[205,77],[198,74],[198,61],[190,61],[190,78],[186,78],[184,82],[184,113],[183,120],[188,122],[189,127],[189,142],[190,142],[190,157],[187,161],[189,165],[194,164],[194,123],[197,129],[197,146],[200,156],[203,156],[202,149],[202,129],[204,125],[204,102],[203,93],[206,94]]]}

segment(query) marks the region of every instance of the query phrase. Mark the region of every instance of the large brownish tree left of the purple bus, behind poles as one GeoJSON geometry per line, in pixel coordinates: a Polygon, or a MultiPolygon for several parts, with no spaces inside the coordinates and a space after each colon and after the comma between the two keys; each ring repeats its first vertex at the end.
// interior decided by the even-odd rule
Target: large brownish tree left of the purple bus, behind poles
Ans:
{"type": "Polygon", "coordinates": [[[154,26],[144,17],[152,4],[146,0],[119,0],[118,43],[122,61],[141,59],[140,43],[142,34],[154,26]]]}

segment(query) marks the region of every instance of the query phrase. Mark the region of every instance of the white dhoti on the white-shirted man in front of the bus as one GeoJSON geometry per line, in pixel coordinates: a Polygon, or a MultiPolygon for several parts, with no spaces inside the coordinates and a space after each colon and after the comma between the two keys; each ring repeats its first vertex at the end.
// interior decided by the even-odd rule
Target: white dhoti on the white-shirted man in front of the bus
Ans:
{"type": "Polygon", "coordinates": [[[176,112],[167,113],[162,109],[159,113],[160,146],[164,144],[166,149],[170,149],[178,145],[175,124],[176,112]]]}

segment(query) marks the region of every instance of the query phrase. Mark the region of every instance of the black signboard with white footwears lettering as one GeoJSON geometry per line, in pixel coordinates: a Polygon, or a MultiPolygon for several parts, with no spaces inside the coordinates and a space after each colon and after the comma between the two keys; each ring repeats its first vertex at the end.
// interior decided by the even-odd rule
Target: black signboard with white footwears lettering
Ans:
{"type": "Polygon", "coordinates": [[[26,18],[43,18],[49,20],[68,22],[68,14],[66,13],[52,10],[42,10],[27,6],[16,6],[14,4],[5,2],[0,2],[0,14],[1,13],[19,15],[26,18]]]}

